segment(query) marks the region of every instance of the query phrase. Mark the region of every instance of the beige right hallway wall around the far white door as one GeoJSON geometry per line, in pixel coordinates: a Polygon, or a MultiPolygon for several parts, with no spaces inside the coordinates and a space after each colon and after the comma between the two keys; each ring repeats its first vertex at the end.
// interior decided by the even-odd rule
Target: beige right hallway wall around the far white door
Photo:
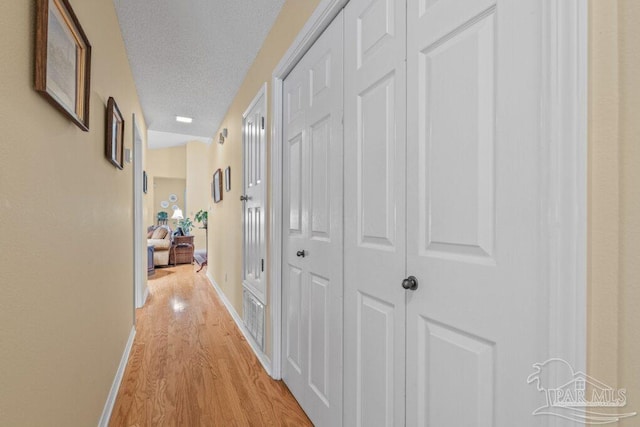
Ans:
{"type": "MultiPolygon", "coordinates": [[[[271,108],[273,70],[318,3],[319,0],[286,1],[229,107],[220,129],[213,138],[217,141],[217,135],[221,129],[227,128],[229,135],[224,145],[214,142],[210,147],[210,176],[217,168],[224,172],[224,169],[230,165],[232,185],[231,191],[223,192],[223,200],[214,204],[209,213],[208,268],[211,276],[240,314],[242,313],[242,204],[239,198],[242,194],[242,113],[265,82],[269,84],[267,102],[271,108]]],[[[267,112],[267,123],[267,142],[270,144],[270,111],[267,112]]],[[[269,319],[268,314],[267,319],[269,319]]],[[[267,353],[269,352],[270,339],[267,336],[267,353]]]]}

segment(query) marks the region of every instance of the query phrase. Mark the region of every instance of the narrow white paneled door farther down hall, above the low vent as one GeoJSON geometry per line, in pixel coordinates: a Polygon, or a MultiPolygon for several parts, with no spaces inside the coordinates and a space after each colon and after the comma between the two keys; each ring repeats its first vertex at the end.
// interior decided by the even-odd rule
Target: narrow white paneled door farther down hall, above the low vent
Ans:
{"type": "MultiPolygon", "coordinates": [[[[244,147],[244,260],[243,285],[266,304],[265,258],[265,127],[267,110],[266,85],[253,99],[242,116],[244,147]]],[[[224,189],[223,189],[224,191],[224,189]]]]}

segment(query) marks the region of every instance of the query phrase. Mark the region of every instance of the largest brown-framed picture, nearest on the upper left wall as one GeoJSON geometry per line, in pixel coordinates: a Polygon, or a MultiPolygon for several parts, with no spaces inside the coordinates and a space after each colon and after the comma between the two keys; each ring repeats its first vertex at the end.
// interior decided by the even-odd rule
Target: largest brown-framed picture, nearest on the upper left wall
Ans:
{"type": "Polygon", "coordinates": [[[91,45],[68,0],[36,1],[35,89],[89,130],[91,45]]]}

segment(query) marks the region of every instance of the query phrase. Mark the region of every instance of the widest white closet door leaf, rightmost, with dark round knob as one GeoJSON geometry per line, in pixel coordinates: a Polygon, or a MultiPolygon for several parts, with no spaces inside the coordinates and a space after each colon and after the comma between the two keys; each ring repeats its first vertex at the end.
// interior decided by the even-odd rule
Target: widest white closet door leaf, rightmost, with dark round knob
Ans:
{"type": "Polygon", "coordinates": [[[408,1],[408,426],[544,421],[541,5],[408,1]]]}

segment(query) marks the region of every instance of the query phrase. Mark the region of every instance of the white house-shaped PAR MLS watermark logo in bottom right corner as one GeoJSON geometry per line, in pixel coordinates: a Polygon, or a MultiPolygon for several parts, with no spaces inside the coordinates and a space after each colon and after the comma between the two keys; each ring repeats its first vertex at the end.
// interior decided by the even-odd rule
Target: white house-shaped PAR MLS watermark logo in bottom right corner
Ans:
{"type": "Polygon", "coordinates": [[[593,409],[622,408],[627,404],[627,390],[614,389],[584,372],[576,372],[566,360],[549,359],[534,363],[533,369],[527,384],[534,383],[546,399],[544,405],[533,411],[533,415],[554,415],[587,424],[615,423],[636,415],[636,412],[593,409]]]}

